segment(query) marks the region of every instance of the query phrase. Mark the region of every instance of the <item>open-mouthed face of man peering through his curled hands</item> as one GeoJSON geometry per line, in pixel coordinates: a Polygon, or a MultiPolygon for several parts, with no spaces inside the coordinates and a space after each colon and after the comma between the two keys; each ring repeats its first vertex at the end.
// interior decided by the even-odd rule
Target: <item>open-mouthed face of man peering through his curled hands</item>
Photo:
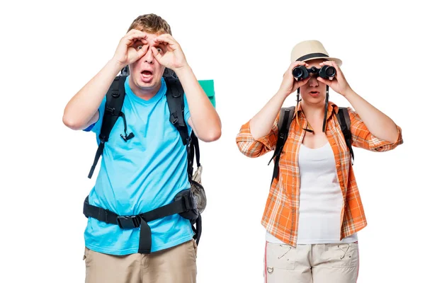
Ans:
{"type": "Polygon", "coordinates": [[[130,87],[136,91],[138,88],[143,93],[157,93],[161,88],[162,74],[164,74],[165,67],[159,64],[152,53],[151,47],[157,48],[160,54],[166,52],[164,44],[155,44],[154,39],[158,35],[147,33],[146,40],[135,42],[134,47],[138,50],[142,45],[149,45],[149,48],[143,57],[136,62],[130,64],[130,87]]]}

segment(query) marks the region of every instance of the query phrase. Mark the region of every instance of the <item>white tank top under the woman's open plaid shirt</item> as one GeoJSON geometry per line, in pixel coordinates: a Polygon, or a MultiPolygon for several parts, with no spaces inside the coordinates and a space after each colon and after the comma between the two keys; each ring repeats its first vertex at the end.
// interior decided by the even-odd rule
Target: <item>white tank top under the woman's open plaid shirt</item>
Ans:
{"type": "MultiPolygon", "coordinates": [[[[297,244],[353,243],[356,233],[339,240],[342,192],[336,173],[334,152],[329,142],[318,149],[301,144],[300,217],[297,244]]],[[[266,241],[282,243],[266,232],[266,241]]]]}

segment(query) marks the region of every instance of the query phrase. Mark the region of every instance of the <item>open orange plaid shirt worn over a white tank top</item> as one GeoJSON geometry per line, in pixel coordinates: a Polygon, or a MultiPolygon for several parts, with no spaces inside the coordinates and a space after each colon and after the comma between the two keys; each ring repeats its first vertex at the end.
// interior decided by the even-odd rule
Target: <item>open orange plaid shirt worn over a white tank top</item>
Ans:
{"type": "MultiPolygon", "coordinates": [[[[302,112],[301,105],[298,109],[300,125],[307,127],[307,120],[302,112]]],[[[351,120],[351,145],[368,149],[370,151],[389,151],[403,143],[402,129],[397,126],[399,133],[397,141],[393,144],[374,137],[370,134],[358,114],[348,107],[351,120]]],[[[329,102],[327,114],[327,139],[334,151],[336,172],[339,185],[344,197],[341,209],[341,239],[356,233],[366,225],[365,213],[360,194],[354,177],[351,155],[346,146],[344,135],[336,118],[338,106],[329,102]]],[[[236,142],[239,151],[249,157],[258,157],[268,151],[274,151],[278,139],[278,117],[273,124],[271,132],[265,137],[254,139],[249,128],[249,122],[242,125],[236,142]]],[[[305,130],[301,129],[295,118],[290,125],[288,139],[280,154],[278,180],[274,178],[264,209],[261,224],[266,231],[290,246],[297,244],[298,214],[300,207],[300,170],[298,168],[298,152],[304,138],[305,130]]]]}

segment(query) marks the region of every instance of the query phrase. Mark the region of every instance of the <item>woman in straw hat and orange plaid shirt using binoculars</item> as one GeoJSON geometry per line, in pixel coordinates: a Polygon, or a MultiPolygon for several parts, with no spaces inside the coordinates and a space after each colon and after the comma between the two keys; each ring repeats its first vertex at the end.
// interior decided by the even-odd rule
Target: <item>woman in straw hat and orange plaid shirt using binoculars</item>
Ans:
{"type": "Polygon", "coordinates": [[[402,132],[390,117],[348,85],[340,59],[329,57],[321,42],[295,45],[278,92],[242,125],[237,146],[258,157],[276,149],[280,108],[298,91],[295,114],[278,161],[261,224],[266,229],[266,282],[356,282],[357,232],[366,226],[351,154],[328,101],[329,87],[344,96],[351,122],[351,145],[388,151],[402,144],[402,132]],[[305,67],[305,79],[293,69],[305,67]],[[315,67],[315,69],[313,68],[315,67]],[[317,71],[329,68],[329,76],[317,71]],[[333,68],[331,68],[333,67],[333,68]]]}

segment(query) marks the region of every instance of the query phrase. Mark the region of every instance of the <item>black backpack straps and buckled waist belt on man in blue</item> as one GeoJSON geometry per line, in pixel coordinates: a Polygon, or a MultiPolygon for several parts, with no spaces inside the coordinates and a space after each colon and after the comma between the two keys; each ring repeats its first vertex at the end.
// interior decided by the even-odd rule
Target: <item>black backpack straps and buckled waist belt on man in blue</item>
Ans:
{"type": "MultiPolygon", "coordinates": [[[[128,141],[135,137],[132,132],[128,134],[125,114],[121,111],[125,98],[125,79],[128,75],[128,67],[123,68],[121,70],[121,74],[115,77],[113,83],[111,83],[111,87],[106,93],[105,112],[103,114],[101,132],[99,134],[100,144],[98,145],[94,163],[89,172],[89,178],[91,178],[94,173],[98,159],[103,154],[105,143],[108,142],[109,134],[111,133],[115,122],[118,120],[118,117],[123,117],[124,134],[120,134],[123,140],[128,141]]],[[[150,212],[144,212],[142,214],[132,216],[119,216],[107,209],[91,205],[89,204],[88,196],[86,197],[86,200],[84,200],[83,213],[86,217],[90,216],[109,224],[118,224],[118,226],[122,229],[135,229],[140,227],[141,236],[139,253],[150,253],[152,242],[150,238],[150,228],[147,225],[147,222],[172,214],[180,214],[191,221],[192,229],[195,233],[193,238],[196,239],[196,243],[199,243],[200,234],[202,232],[202,220],[200,214],[206,206],[205,190],[203,185],[200,184],[199,175],[196,176],[198,170],[201,168],[198,137],[196,137],[196,134],[193,131],[191,135],[188,134],[188,127],[184,120],[183,87],[181,86],[176,74],[171,69],[166,68],[163,77],[167,87],[166,101],[170,110],[169,121],[179,131],[183,145],[186,146],[186,151],[188,153],[187,171],[191,188],[179,192],[174,197],[174,202],[171,202],[170,204],[153,209],[150,212]],[[198,170],[195,175],[193,175],[193,159],[195,155],[198,170]]]]}

